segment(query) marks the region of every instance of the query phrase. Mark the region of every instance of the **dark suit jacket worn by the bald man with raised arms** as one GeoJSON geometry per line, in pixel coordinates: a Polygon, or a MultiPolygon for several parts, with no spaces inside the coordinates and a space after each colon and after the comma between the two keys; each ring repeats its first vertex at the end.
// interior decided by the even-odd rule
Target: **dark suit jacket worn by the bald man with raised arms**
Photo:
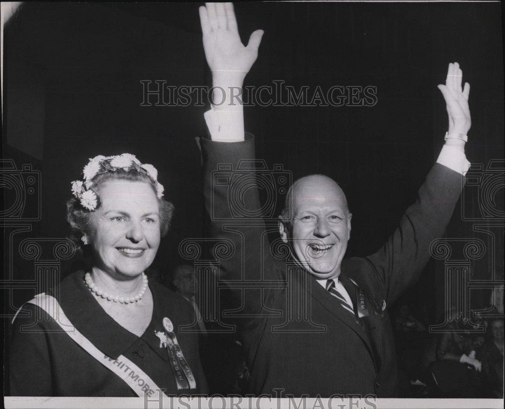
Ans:
{"type": "MultiPolygon", "coordinates": [[[[355,306],[361,305],[360,297],[368,304],[369,316],[357,320],[313,276],[300,271],[280,241],[268,242],[261,220],[244,220],[247,212],[254,216],[262,209],[258,189],[246,188],[251,186],[243,176],[247,172],[236,170],[240,160],[255,159],[254,139],[246,138],[232,143],[203,139],[201,147],[212,235],[232,243],[231,257],[219,261],[220,276],[230,286],[247,287],[236,291],[241,307],[234,316],[251,391],[277,397],[396,396],[393,332],[387,308],[382,311],[384,301],[391,305],[418,278],[430,243],[443,234],[458,201],[462,175],[435,164],[418,200],[379,250],[342,262],[340,280],[355,306]],[[219,164],[232,164],[228,179],[221,177],[223,167],[213,174],[219,164]]],[[[276,223],[266,225],[276,229],[276,223]]]]}

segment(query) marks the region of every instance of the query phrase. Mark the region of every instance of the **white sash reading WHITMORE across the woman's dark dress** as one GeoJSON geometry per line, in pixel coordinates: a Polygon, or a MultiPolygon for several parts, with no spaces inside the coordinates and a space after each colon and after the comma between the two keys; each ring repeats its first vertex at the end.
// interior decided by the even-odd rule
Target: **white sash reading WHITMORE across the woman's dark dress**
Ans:
{"type": "MultiPolygon", "coordinates": [[[[28,301],[44,310],[72,338],[77,345],[89,353],[96,361],[119,376],[138,396],[153,396],[161,389],[139,367],[123,355],[115,360],[101,352],[84,335],[77,331],[63,312],[58,300],[45,293],[35,295],[28,301]]],[[[13,320],[14,321],[14,320],[13,320]]],[[[163,393],[163,392],[162,392],[163,393]]],[[[165,394],[163,394],[165,396],[165,394]]]]}

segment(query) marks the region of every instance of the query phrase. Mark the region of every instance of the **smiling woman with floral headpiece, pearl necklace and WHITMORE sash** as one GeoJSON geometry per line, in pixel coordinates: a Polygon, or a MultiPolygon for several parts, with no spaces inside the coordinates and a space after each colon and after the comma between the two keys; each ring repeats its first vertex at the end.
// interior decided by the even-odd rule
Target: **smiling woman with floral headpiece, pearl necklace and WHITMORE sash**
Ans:
{"type": "Polygon", "coordinates": [[[14,396],[144,396],[206,393],[191,305],[148,283],[173,206],[153,165],[97,156],[72,182],[72,238],[92,254],[89,271],[39,294],[13,320],[14,396]]]}

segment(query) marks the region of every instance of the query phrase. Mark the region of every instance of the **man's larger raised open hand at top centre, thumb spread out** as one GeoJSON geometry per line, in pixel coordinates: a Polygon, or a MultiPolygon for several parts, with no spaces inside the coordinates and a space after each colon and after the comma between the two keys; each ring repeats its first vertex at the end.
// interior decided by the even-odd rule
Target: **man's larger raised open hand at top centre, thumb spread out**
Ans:
{"type": "Polygon", "coordinates": [[[201,31],[213,83],[242,86],[258,57],[263,30],[249,37],[247,46],[238,35],[232,3],[206,3],[199,8],[201,31]]]}

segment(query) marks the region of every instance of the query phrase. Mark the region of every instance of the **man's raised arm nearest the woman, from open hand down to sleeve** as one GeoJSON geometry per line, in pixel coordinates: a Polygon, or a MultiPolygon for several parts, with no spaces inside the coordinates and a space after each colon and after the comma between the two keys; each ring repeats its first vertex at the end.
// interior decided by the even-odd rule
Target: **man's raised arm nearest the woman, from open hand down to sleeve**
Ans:
{"type": "MultiPolygon", "coordinates": [[[[265,269],[269,274],[273,269],[270,268],[271,258],[261,216],[254,220],[244,218],[244,214],[258,214],[261,204],[258,189],[251,183],[250,176],[254,170],[239,167],[240,161],[250,163],[256,158],[254,140],[251,135],[244,137],[241,100],[234,98],[232,93],[240,93],[243,80],[256,61],[263,31],[253,32],[247,46],[244,46],[231,3],[207,3],[205,7],[200,7],[199,14],[205,55],[212,71],[213,86],[216,87],[213,96],[219,103],[213,104],[205,114],[212,140],[201,140],[210,235],[218,241],[233,243],[231,257],[220,261],[221,278],[258,283],[265,278],[262,274],[265,264],[269,264],[269,268],[265,269]],[[221,103],[223,92],[225,100],[221,103]],[[219,168],[221,170],[218,171],[219,168]],[[242,212],[233,213],[233,203],[242,212]]],[[[244,291],[243,295],[242,291],[234,294],[244,304],[240,314],[248,315],[246,321],[250,322],[262,308],[261,293],[259,289],[244,291]]]]}

